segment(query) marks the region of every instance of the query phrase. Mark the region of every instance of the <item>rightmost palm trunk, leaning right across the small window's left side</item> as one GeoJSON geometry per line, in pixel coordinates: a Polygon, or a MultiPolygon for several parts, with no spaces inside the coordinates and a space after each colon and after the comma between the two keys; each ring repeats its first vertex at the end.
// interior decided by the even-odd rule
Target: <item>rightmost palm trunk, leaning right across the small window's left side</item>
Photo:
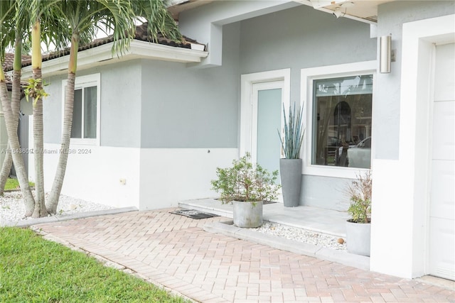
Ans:
{"type": "Polygon", "coordinates": [[[66,165],[68,163],[68,150],[70,149],[71,126],[73,126],[74,87],[77,69],[77,49],[79,47],[79,35],[71,36],[70,62],[68,62],[68,82],[65,91],[65,109],[63,111],[63,131],[58,158],[57,170],[55,171],[52,190],[48,199],[48,211],[50,214],[57,212],[58,199],[62,192],[63,179],[65,178],[66,165]]]}

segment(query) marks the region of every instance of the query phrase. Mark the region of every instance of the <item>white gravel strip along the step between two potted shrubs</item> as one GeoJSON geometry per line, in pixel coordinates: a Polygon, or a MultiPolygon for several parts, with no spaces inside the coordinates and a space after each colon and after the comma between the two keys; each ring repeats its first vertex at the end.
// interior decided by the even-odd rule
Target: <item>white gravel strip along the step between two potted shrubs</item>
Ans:
{"type": "Polygon", "coordinates": [[[259,228],[253,229],[258,233],[266,233],[273,236],[287,238],[293,241],[304,242],[319,247],[331,248],[336,250],[346,250],[346,242],[338,243],[339,237],[329,236],[323,233],[316,233],[302,228],[286,226],[282,224],[275,224],[264,222],[259,228]]]}

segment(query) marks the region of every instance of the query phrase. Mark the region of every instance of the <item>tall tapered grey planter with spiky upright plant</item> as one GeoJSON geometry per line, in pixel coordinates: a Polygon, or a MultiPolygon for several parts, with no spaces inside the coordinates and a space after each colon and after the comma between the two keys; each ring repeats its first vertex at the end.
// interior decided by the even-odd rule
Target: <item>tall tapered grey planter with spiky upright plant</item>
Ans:
{"type": "Polygon", "coordinates": [[[284,158],[279,160],[279,172],[282,181],[282,192],[284,206],[299,206],[301,189],[301,165],[300,149],[304,141],[304,124],[302,112],[299,108],[296,111],[289,105],[289,116],[286,118],[286,111],[283,106],[284,133],[278,131],[279,140],[282,142],[284,158]]]}

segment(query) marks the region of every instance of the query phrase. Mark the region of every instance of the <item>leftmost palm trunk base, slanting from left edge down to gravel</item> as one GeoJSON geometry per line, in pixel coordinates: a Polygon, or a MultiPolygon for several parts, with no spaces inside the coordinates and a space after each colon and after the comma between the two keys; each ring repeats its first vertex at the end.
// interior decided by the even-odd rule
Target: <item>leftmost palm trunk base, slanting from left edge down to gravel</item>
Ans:
{"type": "Polygon", "coordinates": [[[9,145],[11,146],[11,156],[13,158],[14,167],[16,167],[19,185],[21,186],[23,202],[26,206],[26,216],[31,216],[33,214],[33,209],[35,206],[35,199],[33,199],[33,194],[31,194],[30,185],[28,184],[27,179],[26,167],[20,153],[21,145],[19,144],[19,138],[17,134],[18,122],[16,119],[14,119],[14,114],[11,109],[11,102],[8,96],[8,89],[6,87],[3,67],[0,69],[0,99],[1,107],[4,112],[8,141],[9,145]]]}

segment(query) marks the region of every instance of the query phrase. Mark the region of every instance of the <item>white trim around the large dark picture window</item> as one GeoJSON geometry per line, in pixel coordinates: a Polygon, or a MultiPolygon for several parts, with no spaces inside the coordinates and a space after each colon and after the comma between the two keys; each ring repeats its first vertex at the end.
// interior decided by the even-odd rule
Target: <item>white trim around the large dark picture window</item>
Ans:
{"type": "MultiPolygon", "coordinates": [[[[304,146],[302,148],[303,174],[326,177],[355,178],[359,172],[366,169],[356,167],[336,167],[311,164],[311,141],[313,137],[313,82],[316,79],[330,79],[337,77],[349,77],[355,75],[373,75],[373,104],[375,99],[375,74],[377,62],[364,61],[342,65],[330,65],[311,67],[301,70],[301,100],[304,100],[304,117],[306,117],[306,131],[304,146]]],[[[374,106],[374,105],[373,105],[374,106]]],[[[373,113],[374,116],[374,113],[373,113]]],[[[374,133],[374,129],[372,129],[374,133]]],[[[372,136],[371,158],[374,158],[374,136],[372,136]]]]}

